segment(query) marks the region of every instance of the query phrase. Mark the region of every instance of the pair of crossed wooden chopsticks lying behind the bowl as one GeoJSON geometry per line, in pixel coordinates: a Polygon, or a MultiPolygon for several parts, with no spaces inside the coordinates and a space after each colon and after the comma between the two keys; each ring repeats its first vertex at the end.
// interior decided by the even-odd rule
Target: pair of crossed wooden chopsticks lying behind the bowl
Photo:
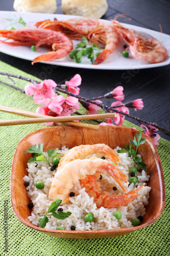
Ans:
{"type": "Polygon", "coordinates": [[[44,122],[60,122],[69,125],[86,127],[93,130],[99,130],[99,125],[74,122],[74,120],[90,120],[90,119],[103,119],[103,118],[115,118],[115,113],[105,113],[105,114],[95,114],[95,115],[80,115],[80,116],[62,116],[62,117],[52,117],[45,116],[41,114],[36,114],[34,112],[19,110],[14,108],[9,108],[8,106],[0,106],[1,112],[6,112],[19,116],[33,117],[29,119],[12,119],[12,120],[0,120],[0,126],[8,125],[19,125],[19,124],[29,124],[29,123],[44,123],[44,122]]]}

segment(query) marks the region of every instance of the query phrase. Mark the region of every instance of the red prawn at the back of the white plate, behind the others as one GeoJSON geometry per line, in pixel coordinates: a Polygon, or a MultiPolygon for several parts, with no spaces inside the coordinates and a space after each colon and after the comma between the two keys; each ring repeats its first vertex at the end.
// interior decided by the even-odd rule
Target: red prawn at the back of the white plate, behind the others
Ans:
{"type": "Polygon", "coordinates": [[[44,20],[44,22],[37,22],[35,26],[37,28],[52,29],[55,31],[61,31],[66,34],[70,39],[80,40],[82,36],[87,36],[92,30],[99,25],[99,19],[97,18],[72,18],[66,20],[44,20]]]}

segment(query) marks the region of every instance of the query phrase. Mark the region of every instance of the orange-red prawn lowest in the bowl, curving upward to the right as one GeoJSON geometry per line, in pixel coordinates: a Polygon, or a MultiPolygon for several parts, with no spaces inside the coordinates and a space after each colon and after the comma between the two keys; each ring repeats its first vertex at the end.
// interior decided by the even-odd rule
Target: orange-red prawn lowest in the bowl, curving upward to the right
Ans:
{"type": "Polygon", "coordinates": [[[121,207],[127,206],[130,202],[132,202],[136,197],[139,196],[138,191],[145,185],[143,183],[136,190],[131,190],[124,195],[114,195],[110,196],[108,193],[100,192],[100,183],[97,182],[97,178],[95,175],[87,175],[86,178],[81,180],[81,186],[85,187],[87,194],[90,197],[93,197],[94,203],[98,208],[100,207],[121,207]]]}

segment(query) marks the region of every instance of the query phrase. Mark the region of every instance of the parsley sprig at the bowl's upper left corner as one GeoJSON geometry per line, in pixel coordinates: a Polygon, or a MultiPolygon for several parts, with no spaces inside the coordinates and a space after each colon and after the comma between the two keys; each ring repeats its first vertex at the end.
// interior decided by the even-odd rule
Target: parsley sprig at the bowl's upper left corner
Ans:
{"type": "Polygon", "coordinates": [[[45,161],[50,165],[50,162],[49,162],[50,158],[60,155],[59,153],[56,153],[57,151],[58,151],[58,148],[55,148],[54,150],[47,150],[46,151],[46,153],[48,155],[48,159],[47,159],[43,153],[43,144],[42,143],[40,143],[38,145],[31,146],[27,150],[27,152],[34,153],[35,155],[34,155],[34,157],[30,158],[30,160],[28,162],[35,163],[38,161],[45,161]]]}

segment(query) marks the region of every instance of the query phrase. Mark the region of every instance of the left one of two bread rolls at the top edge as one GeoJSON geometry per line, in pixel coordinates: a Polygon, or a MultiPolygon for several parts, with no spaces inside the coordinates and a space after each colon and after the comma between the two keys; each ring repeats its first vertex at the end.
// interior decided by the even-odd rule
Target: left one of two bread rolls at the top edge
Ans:
{"type": "Polygon", "coordinates": [[[14,10],[17,12],[55,13],[56,0],[15,0],[14,10]]]}

